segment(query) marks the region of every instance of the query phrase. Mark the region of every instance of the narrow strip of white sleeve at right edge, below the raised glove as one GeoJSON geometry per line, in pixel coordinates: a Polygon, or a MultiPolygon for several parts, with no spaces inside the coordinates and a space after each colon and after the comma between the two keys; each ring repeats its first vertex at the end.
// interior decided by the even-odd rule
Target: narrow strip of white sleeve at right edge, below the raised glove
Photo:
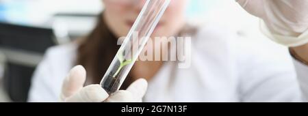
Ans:
{"type": "Polygon", "coordinates": [[[300,83],[300,89],[303,93],[303,99],[305,102],[308,102],[308,66],[296,59],[293,62],[296,68],[298,83],[300,83]]]}

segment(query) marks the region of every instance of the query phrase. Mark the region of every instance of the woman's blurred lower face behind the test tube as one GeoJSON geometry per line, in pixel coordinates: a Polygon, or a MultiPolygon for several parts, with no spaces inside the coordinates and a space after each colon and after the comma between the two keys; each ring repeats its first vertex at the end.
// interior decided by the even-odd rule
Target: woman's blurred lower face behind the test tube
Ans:
{"type": "MultiPolygon", "coordinates": [[[[116,36],[126,36],[131,29],[146,0],[103,0],[104,18],[116,36]]],[[[185,24],[184,12],[187,0],[172,0],[159,21],[152,37],[172,36],[185,24]]]]}

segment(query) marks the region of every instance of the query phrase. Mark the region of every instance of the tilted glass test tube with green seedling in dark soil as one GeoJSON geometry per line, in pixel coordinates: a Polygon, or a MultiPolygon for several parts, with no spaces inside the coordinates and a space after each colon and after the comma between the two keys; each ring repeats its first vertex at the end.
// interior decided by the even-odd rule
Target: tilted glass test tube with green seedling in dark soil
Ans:
{"type": "Polygon", "coordinates": [[[171,0],[147,0],[101,80],[107,93],[120,89],[171,0]],[[137,32],[137,33],[136,33],[137,32]],[[136,37],[137,36],[137,37],[136,37]]]}

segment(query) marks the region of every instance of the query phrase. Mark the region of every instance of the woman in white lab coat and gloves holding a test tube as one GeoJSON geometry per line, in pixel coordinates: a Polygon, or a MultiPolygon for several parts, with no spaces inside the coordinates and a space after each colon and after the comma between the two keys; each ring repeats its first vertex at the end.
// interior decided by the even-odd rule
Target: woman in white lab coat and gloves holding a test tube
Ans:
{"type": "MultiPolygon", "coordinates": [[[[99,85],[93,85],[101,81],[103,73],[118,50],[117,39],[127,34],[144,4],[144,1],[136,0],[103,0],[105,10],[99,18],[97,27],[87,38],[64,46],[56,46],[47,51],[34,74],[29,101],[57,102],[58,98],[62,102],[140,102],[141,100],[145,102],[299,102],[305,100],[302,95],[308,91],[305,87],[308,84],[308,71],[305,71],[308,70],[307,66],[295,61],[298,71],[298,78],[296,78],[292,59],[287,50],[272,49],[272,44],[250,44],[252,42],[248,42],[246,38],[217,25],[205,25],[202,28],[188,27],[185,25],[183,15],[187,2],[187,0],[171,1],[152,37],[191,35],[190,68],[179,69],[176,67],[177,62],[173,61],[137,61],[121,88],[126,90],[117,91],[109,96],[99,85]],[[73,66],[75,68],[70,70],[73,66]],[[67,72],[69,74],[66,76],[67,72]],[[138,79],[140,77],[144,79],[138,79]],[[298,79],[303,80],[300,81],[303,92],[300,91],[298,79]],[[135,82],[132,83],[133,81],[135,82]],[[149,81],[147,91],[146,81],[149,81]]],[[[293,46],[296,44],[299,47],[292,48],[293,55],[303,58],[300,61],[308,61],[307,44],[303,44],[305,40],[283,41],[282,39],[285,36],[295,38],[296,35],[306,31],[307,28],[303,29],[300,26],[307,27],[304,25],[307,24],[307,20],[300,19],[307,15],[303,17],[290,15],[296,11],[306,12],[307,8],[297,6],[305,6],[307,1],[291,3],[294,7],[289,9],[294,12],[279,9],[280,6],[287,4],[287,1],[281,1],[280,4],[276,1],[239,0],[238,2],[251,14],[264,19],[267,25],[264,31],[272,35],[276,42],[293,46]],[[268,8],[262,9],[260,6],[268,8]],[[275,6],[278,9],[274,9],[275,6]],[[302,9],[294,10],[296,7],[302,9]],[[277,14],[281,16],[274,17],[277,14]],[[281,17],[283,19],[292,17],[291,20],[295,19],[295,21],[285,23],[288,20],[281,21],[279,20],[281,17]],[[296,21],[302,25],[292,25],[296,21]],[[277,38],[274,35],[285,36],[277,38]]],[[[161,50],[160,47],[154,49],[161,50]]]]}

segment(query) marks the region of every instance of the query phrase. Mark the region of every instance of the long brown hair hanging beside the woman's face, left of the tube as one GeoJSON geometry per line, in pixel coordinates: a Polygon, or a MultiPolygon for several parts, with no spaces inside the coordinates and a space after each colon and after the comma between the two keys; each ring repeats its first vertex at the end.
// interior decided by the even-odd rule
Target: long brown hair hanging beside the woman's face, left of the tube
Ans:
{"type": "MultiPolygon", "coordinates": [[[[100,83],[118,48],[116,36],[107,27],[103,15],[100,15],[97,27],[81,41],[77,49],[77,64],[87,70],[86,85],[100,83]]],[[[126,81],[123,87],[127,87],[126,81]]]]}

